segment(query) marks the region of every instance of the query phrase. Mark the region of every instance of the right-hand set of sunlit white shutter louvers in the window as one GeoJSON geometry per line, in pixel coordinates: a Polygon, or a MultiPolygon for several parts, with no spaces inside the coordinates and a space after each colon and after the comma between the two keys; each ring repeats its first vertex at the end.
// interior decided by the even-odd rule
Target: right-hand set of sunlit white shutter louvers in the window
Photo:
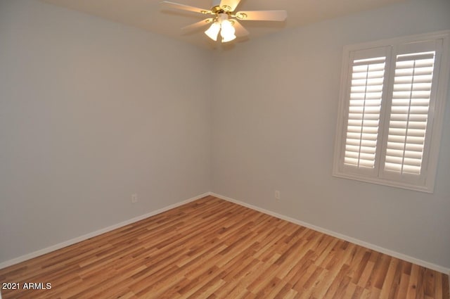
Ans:
{"type": "Polygon", "coordinates": [[[435,52],[397,56],[385,170],[420,175],[435,52]]]}

